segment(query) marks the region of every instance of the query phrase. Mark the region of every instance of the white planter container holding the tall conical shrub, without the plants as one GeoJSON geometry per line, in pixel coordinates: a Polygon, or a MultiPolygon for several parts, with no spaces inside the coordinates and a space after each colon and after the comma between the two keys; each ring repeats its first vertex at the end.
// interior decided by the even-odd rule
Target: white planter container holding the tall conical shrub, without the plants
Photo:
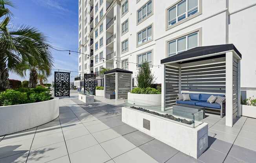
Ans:
{"type": "Polygon", "coordinates": [[[128,92],[128,103],[142,103],[142,106],[161,106],[161,94],[135,94],[128,92]]]}

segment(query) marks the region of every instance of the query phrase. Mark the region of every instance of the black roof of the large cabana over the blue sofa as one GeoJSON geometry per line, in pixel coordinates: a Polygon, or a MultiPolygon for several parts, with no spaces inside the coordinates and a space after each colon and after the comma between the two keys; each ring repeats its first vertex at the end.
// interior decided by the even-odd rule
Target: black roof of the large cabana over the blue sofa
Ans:
{"type": "MultiPolygon", "coordinates": [[[[195,47],[193,49],[179,53],[177,55],[165,58],[165,59],[161,60],[161,64],[168,63],[168,62],[175,62],[175,61],[184,60],[184,59],[188,59],[188,58],[194,58],[194,57],[198,57],[198,56],[205,56],[208,54],[221,53],[221,52],[230,51],[230,50],[234,50],[238,54],[238,56],[240,56],[240,58],[242,58],[241,53],[231,43],[231,44],[223,44],[223,45],[195,47]]],[[[219,57],[223,57],[223,56],[220,55],[219,57]]]]}

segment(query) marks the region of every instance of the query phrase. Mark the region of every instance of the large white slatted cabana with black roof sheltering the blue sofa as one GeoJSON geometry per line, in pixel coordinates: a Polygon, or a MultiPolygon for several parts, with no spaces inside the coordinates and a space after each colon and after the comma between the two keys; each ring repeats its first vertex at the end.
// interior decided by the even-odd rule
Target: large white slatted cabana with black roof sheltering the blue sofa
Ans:
{"type": "Polygon", "coordinates": [[[233,119],[240,116],[241,58],[233,44],[224,44],[195,47],[161,60],[162,111],[176,104],[178,93],[223,94],[225,109],[219,111],[232,127],[233,119]]]}

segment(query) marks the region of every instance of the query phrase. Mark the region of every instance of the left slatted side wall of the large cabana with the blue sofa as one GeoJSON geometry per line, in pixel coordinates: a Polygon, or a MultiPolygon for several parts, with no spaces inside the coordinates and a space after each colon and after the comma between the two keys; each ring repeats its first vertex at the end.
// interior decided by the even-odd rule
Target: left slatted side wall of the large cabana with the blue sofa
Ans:
{"type": "Polygon", "coordinates": [[[179,68],[165,66],[165,85],[165,107],[171,107],[179,93],[179,68]]]}

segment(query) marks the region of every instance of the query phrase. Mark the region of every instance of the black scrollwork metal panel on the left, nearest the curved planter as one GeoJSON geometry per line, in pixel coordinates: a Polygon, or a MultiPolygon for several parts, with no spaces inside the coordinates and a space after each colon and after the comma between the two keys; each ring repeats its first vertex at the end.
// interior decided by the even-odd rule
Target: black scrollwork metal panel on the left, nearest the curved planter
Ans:
{"type": "Polygon", "coordinates": [[[54,72],[54,96],[65,97],[70,94],[70,73],[54,72]]]}

